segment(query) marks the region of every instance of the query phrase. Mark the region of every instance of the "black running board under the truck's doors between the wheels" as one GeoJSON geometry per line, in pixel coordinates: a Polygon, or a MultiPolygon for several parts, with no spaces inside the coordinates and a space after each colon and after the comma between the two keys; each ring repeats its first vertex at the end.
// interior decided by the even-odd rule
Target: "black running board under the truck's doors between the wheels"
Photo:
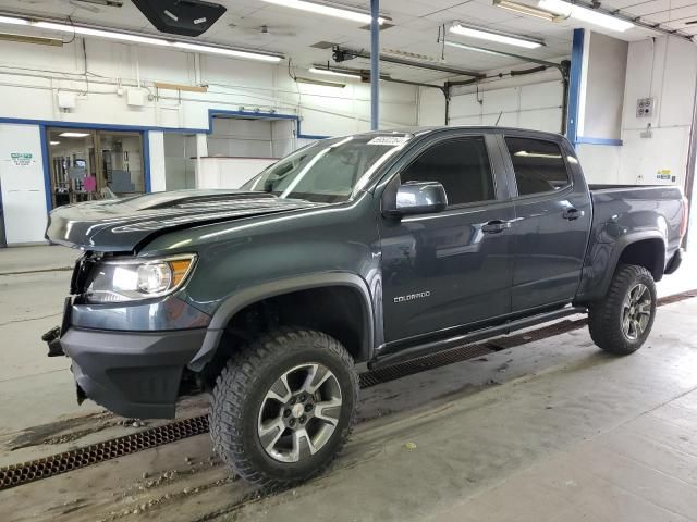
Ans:
{"type": "Polygon", "coordinates": [[[389,352],[379,353],[372,361],[368,363],[368,368],[370,370],[375,370],[383,366],[389,366],[408,359],[429,356],[439,351],[457,348],[458,346],[467,345],[469,343],[476,343],[499,335],[508,335],[511,332],[515,332],[517,330],[523,330],[530,326],[536,326],[538,324],[548,323],[550,321],[555,321],[558,319],[566,318],[568,315],[576,315],[578,313],[587,312],[588,309],[586,307],[565,307],[561,310],[540,313],[538,315],[531,315],[529,318],[516,319],[514,321],[509,321],[497,326],[489,326],[487,328],[475,330],[462,335],[445,337],[438,340],[430,340],[428,343],[414,345],[408,348],[393,348],[389,352]]]}

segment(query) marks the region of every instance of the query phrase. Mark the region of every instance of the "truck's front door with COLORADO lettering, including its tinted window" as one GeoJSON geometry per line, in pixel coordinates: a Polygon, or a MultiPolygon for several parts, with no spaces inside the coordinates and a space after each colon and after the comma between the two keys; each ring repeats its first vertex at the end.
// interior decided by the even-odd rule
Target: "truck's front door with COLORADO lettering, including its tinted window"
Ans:
{"type": "Polygon", "coordinates": [[[504,175],[498,138],[456,132],[447,136],[414,150],[389,182],[439,182],[448,208],[380,220],[388,343],[511,310],[514,214],[505,177],[494,178],[496,172],[504,175]]]}

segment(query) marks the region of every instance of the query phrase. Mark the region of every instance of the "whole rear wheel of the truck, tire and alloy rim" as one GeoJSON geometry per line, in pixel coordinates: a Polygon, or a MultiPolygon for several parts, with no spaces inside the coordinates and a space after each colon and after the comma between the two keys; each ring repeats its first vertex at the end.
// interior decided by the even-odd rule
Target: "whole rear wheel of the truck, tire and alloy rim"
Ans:
{"type": "Polygon", "coordinates": [[[656,284],[644,266],[617,266],[608,294],[588,310],[594,343],[611,353],[626,356],[646,341],[656,318],[656,284]]]}

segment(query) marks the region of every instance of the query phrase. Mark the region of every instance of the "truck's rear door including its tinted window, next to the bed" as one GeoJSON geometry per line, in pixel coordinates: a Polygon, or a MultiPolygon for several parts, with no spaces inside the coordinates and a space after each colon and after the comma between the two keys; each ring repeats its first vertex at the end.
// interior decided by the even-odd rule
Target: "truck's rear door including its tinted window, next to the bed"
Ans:
{"type": "Polygon", "coordinates": [[[564,140],[506,134],[515,206],[512,311],[574,298],[590,231],[588,187],[564,140]]]}

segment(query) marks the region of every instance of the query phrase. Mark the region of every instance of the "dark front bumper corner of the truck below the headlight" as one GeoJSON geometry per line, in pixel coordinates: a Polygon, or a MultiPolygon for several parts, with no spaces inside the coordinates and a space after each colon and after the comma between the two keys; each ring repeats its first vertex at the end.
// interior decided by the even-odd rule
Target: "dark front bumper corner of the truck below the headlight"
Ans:
{"type": "Polygon", "coordinates": [[[205,336],[206,328],[135,333],[70,327],[60,344],[88,398],[119,415],[170,419],[184,366],[205,336]]]}

